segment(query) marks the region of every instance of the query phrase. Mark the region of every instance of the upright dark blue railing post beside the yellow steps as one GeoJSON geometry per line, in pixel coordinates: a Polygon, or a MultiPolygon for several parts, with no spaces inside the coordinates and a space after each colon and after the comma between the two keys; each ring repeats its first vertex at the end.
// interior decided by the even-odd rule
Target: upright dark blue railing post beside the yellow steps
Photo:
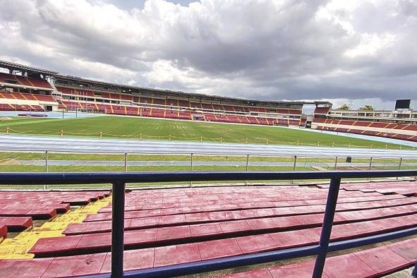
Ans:
{"type": "Polygon", "coordinates": [[[111,212],[111,278],[123,277],[125,183],[113,183],[111,212]]]}

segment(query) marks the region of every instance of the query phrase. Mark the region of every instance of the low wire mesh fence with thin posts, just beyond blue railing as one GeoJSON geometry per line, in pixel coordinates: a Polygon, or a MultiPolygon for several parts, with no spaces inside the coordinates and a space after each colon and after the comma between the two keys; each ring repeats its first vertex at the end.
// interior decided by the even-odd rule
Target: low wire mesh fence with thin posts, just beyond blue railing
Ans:
{"type": "MultiPolygon", "coordinates": [[[[416,159],[401,157],[298,157],[140,152],[57,152],[0,150],[0,172],[158,172],[158,171],[368,171],[417,169],[416,159]]],[[[282,181],[230,181],[227,184],[276,184],[282,181]]],[[[288,182],[288,181],[286,181],[288,182]]],[[[305,183],[304,180],[291,183],[305,183]]],[[[323,180],[325,182],[325,180],[323,180]]],[[[207,182],[158,183],[157,186],[204,186],[207,182]]],[[[220,182],[210,184],[222,185],[220,182]]],[[[133,183],[129,186],[150,186],[133,183]]],[[[103,184],[100,187],[110,185],[103,184]]],[[[155,183],[152,184],[155,186],[155,183]]],[[[18,186],[17,186],[18,187],[18,186]]],[[[27,187],[27,186],[25,186],[27,187]]],[[[45,186],[46,187],[46,186],[45,186]]],[[[62,188],[63,186],[59,186],[62,188]]],[[[85,187],[68,186],[64,188],[85,187]]]]}

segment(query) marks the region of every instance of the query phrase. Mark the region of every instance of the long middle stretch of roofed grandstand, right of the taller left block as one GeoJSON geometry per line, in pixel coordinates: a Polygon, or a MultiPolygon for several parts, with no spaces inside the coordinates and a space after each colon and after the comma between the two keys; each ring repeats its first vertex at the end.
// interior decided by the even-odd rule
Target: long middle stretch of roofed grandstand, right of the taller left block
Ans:
{"type": "Polygon", "coordinates": [[[59,109],[162,119],[299,126],[305,104],[155,90],[68,75],[56,75],[54,84],[59,109]]]}

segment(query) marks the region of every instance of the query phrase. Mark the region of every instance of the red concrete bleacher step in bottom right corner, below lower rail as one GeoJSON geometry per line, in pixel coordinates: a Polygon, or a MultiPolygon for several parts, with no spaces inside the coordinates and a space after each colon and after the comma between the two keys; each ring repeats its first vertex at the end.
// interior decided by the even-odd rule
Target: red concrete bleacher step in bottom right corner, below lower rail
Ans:
{"type": "MultiPolygon", "coordinates": [[[[386,246],[338,255],[327,258],[322,277],[381,277],[417,262],[417,238],[391,243],[386,246]]],[[[309,260],[292,265],[268,267],[262,270],[252,270],[236,274],[224,275],[222,278],[248,277],[311,277],[314,261],[309,260]]]]}

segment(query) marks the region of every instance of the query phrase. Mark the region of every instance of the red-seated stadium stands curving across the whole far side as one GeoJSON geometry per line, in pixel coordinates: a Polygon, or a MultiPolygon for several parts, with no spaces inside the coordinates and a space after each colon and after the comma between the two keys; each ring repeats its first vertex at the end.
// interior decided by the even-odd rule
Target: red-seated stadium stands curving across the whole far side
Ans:
{"type": "Polygon", "coordinates": [[[332,109],[330,102],[275,102],[107,83],[0,61],[0,111],[80,111],[126,116],[301,126],[417,142],[417,111],[332,109]],[[303,114],[314,105],[313,116],[303,114]]]}

